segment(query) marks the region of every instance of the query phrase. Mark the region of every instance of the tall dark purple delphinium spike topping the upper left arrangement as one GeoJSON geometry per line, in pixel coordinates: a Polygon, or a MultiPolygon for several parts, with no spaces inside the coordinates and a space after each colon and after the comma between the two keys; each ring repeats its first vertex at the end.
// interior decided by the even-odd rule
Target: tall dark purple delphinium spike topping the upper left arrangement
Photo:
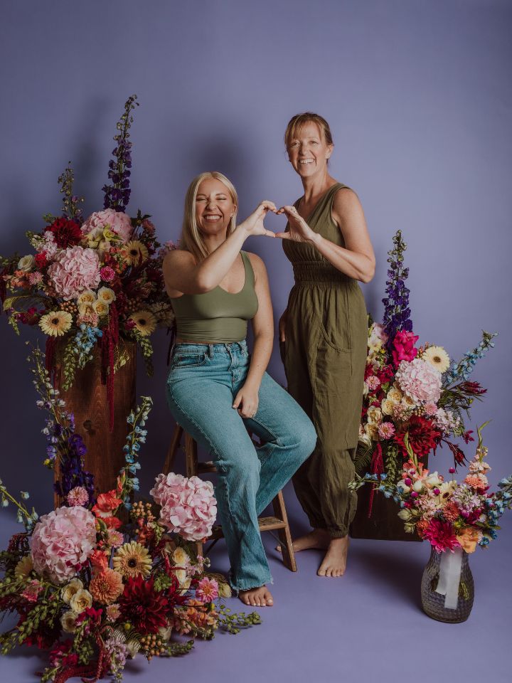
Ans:
{"type": "Polygon", "coordinates": [[[112,184],[102,187],[105,192],[104,208],[113,208],[114,211],[122,211],[123,213],[128,206],[132,192],[129,187],[129,177],[132,174],[130,171],[132,168],[132,143],[129,142],[129,128],[133,123],[131,112],[139,106],[139,102],[135,100],[137,100],[137,95],[132,95],[124,103],[124,114],[116,125],[119,132],[114,135],[117,147],[112,149],[112,154],[115,159],[111,159],[109,162],[108,176],[112,184]]]}

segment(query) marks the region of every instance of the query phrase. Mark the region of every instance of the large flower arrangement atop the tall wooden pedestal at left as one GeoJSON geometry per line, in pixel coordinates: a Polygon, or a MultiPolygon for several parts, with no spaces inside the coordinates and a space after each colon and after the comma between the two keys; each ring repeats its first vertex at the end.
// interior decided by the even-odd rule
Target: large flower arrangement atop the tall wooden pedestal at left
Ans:
{"type": "Polygon", "coordinates": [[[127,342],[139,345],[151,374],[150,337],[170,327],[174,314],[164,292],[161,263],[167,250],[156,241],[149,214],[125,213],[132,168],[129,129],[137,95],[129,97],[117,123],[116,147],[109,163],[104,209],[85,220],[82,197],[73,194],[70,166],[59,176],[61,216],[46,214],[46,226],[27,237],[35,253],[1,259],[0,295],[9,323],[38,325],[46,334],[46,363],[56,344],[63,364],[63,388],[73,385],[99,347],[102,380],[107,383],[113,420],[113,376],[127,361],[127,342]],[[8,296],[9,294],[9,296],[8,296]]]}

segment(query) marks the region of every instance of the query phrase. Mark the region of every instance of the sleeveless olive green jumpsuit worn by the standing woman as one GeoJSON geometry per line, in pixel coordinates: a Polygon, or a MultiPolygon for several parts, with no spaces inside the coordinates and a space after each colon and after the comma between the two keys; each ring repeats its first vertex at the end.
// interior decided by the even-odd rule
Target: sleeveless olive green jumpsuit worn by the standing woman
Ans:
{"type": "MultiPolygon", "coordinates": [[[[331,216],[333,185],[306,218],[311,230],[344,246],[331,216]]],[[[297,208],[299,200],[295,203],[297,208]]],[[[311,526],[333,538],[348,533],[357,497],[353,479],[363,401],[368,319],[356,280],[336,270],[313,245],[283,240],[295,285],[289,295],[283,361],[288,391],[311,418],[316,448],[293,477],[311,526]]]]}

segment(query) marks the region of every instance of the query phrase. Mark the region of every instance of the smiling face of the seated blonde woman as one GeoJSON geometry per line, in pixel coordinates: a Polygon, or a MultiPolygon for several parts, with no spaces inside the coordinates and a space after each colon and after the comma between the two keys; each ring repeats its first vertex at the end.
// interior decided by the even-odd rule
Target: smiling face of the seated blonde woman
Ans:
{"type": "Polygon", "coordinates": [[[216,178],[201,181],[196,194],[196,223],[203,235],[225,233],[235,211],[233,198],[222,181],[216,178]]]}

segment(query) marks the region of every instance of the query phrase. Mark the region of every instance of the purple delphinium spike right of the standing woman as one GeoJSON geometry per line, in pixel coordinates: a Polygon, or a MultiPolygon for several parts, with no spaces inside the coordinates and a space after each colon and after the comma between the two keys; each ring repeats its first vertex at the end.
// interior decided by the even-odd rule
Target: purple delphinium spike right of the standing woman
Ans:
{"type": "Polygon", "coordinates": [[[401,329],[412,332],[412,320],[410,319],[409,292],[405,287],[405,280],[409,276],[409,268],[403,267],[403,253],[407,244],[402,240],[402,231],[396,231],[393,237],[394,248],[388,251],[388,280],[386,280],[385,292],[387,297],[383,299],[384,316],[383,325],[388,335],[388,351],[393,348],[395,334],[401,329]]]}

